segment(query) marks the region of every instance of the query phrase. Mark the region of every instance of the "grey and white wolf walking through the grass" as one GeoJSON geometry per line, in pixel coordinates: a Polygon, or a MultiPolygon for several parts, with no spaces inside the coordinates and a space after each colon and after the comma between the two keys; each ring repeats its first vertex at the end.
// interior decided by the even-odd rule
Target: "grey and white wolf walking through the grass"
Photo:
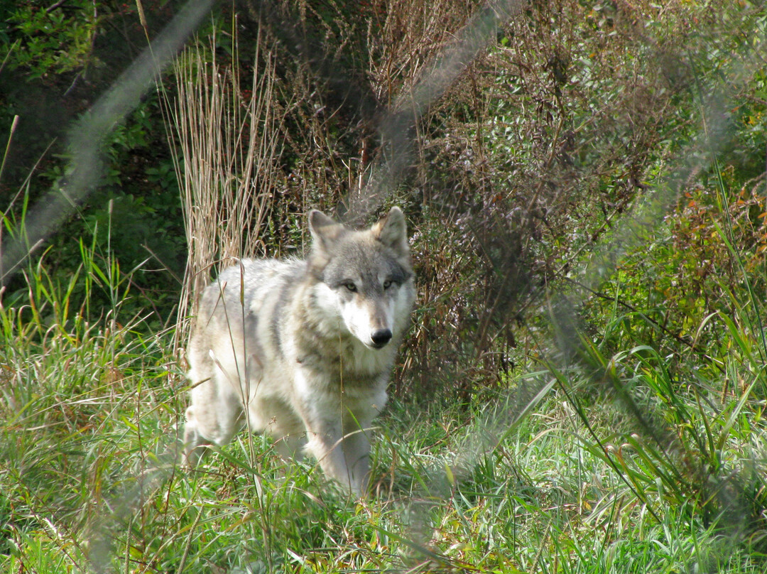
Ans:
{"type": "Polygon", "coordinates": [[[405,217],[369,229],[308,217],[301,259],[242,259],[202,292],[189,340],[186,458],[245,425],[285,457],[314,456],[352,493],[367,490],[370,431],[415,299],[405,217]]]}

